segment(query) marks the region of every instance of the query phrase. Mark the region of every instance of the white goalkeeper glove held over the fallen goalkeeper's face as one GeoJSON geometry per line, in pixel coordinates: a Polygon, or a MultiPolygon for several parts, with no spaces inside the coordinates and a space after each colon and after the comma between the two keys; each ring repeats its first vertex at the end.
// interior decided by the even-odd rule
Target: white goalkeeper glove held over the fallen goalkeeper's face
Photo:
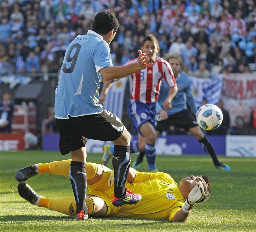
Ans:
{"type": "Polygon", "coordinates": [[[187,200],[182,207],[182,211],[184,213],[189,213],[190,210],[192,210],[194,204],[201,201],[204,198],[204,195],[204,186],[203,183],[200,181],[188,194],[187,200]]]}

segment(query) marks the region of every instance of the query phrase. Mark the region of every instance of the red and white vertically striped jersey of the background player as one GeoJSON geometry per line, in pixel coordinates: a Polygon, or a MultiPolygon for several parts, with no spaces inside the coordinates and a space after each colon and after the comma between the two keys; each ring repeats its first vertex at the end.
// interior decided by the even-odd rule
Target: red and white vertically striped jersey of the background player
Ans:
{"type": "MultiPolygon", "coordinates": [[[[135,62],[137,62],[137,58],[128,60],[124,65],[135,62]]],[[[142,103],[157,101],[163,78],[169,87],[176,85],[170,64],[158,56],[151,66],[130,76],[132,80],[131,99],[142,103]]]]}

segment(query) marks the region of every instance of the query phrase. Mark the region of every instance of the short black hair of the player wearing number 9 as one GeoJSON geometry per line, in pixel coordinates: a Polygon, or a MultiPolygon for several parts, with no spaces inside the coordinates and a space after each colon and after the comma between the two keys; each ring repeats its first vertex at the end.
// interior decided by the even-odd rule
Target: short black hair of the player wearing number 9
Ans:
{"type": "Polygon", "coordinates": [[[106,35],[111,30],[117,31],[119,23],[110,11],[102,11],[98,13],[93,20],[92,30],[98,34],[106,35]]]}

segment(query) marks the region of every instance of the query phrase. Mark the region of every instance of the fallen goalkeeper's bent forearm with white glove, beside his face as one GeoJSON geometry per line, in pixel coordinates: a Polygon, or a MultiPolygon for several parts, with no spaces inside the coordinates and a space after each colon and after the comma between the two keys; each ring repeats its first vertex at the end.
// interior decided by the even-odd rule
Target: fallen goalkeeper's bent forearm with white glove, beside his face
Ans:
{"type": "Polygon", "coordinates": [[[203,183],[198,182],[197,185],[190,191],[184,206],[175,214],[175,216],[172,218],[172,221],[173,222],[186,221],[194,204],[203,200],[204,195],[205,193],[204,193],[203,183]]]}

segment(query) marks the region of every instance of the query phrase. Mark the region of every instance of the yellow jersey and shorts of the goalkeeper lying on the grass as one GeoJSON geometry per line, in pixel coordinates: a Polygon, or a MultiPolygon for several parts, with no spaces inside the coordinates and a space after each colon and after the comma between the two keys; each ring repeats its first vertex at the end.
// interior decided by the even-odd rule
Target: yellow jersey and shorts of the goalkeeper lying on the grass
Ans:
{"type": "Polygon", "coordinates": [[[89,193],[101,197],[108,206],[108,217],[140,217],[172,220],[184,205],[185,200],[178,189],[177,183],[164,172],[137,172],[133,183],[126,182],[126,187],[133,193],[142,196],[136,205],[112,205],[114,187],[106,186],[111,170],[103,166],[103,178],[96,184],[88,186],[89,193]]]}

